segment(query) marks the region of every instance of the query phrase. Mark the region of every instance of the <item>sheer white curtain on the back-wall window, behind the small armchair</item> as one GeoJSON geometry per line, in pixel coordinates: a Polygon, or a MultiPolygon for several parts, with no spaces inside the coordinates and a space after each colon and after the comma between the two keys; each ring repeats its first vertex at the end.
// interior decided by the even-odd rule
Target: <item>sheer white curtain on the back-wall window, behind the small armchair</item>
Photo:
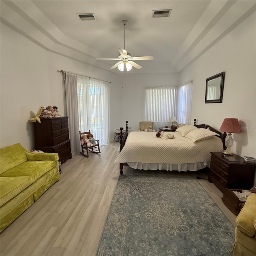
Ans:
{"type": "Polygon", "coordinates": [[[176,115],[177,89],[173,86],[146,88],[145,121],[154,122],[156,130],[170,126],[169,119],[176,115]]]}

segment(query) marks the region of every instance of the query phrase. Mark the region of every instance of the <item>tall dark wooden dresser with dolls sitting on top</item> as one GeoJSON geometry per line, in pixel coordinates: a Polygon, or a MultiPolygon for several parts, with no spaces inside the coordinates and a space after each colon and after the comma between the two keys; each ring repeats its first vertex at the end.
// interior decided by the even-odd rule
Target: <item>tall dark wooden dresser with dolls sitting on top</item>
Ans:
{"type": "Polygon", "coordinates": [[[40,118],[34,123],[35,149],[58,153],[62,163],[72,158],[68,133],[68,116],[40,118]]]}

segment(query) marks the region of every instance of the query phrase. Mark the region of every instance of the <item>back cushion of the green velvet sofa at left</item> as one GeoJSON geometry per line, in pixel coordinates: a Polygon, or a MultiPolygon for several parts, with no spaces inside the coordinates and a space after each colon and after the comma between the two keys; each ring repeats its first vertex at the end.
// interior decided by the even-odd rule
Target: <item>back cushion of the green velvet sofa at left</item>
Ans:
{"type": "Polygon", "coordinates": [[[0,173],[27,161],[27,156],[20,143],[1,148],[0,173]]]}

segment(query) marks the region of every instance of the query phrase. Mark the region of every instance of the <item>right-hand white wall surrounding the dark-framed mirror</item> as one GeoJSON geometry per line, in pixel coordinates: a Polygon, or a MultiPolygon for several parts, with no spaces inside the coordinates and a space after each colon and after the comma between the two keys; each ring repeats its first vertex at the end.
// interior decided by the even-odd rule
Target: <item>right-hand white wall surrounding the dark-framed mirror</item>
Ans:
{"type": "Polygon", "coordinates": [[[220,42],[190,64],[180,82],[194,80],[192,120],[219,129],[224,118],[238,118],[242,130],[233,134],[232,151],[256,157],[256,17],[255,12],[220,42]],[[226,72],[222,103],[205,104],[206,78],[226,72]]]}

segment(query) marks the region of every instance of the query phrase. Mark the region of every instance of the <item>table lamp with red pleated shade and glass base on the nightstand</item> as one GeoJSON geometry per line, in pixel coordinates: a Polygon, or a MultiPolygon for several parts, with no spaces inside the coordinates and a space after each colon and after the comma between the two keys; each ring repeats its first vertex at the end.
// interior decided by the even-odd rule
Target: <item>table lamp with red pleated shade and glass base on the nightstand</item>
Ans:
{"type": "Polygon", "coordinates": [[[225,139],[226,150],[223,151],[225,155],[233,155],[230,148],[233,145],[234,139],[231,133],[240,133],[240,125],[237,118],[225,118],[222,125],[220,126],[221,132],[227,132],[228,136],[225,139]]]}

